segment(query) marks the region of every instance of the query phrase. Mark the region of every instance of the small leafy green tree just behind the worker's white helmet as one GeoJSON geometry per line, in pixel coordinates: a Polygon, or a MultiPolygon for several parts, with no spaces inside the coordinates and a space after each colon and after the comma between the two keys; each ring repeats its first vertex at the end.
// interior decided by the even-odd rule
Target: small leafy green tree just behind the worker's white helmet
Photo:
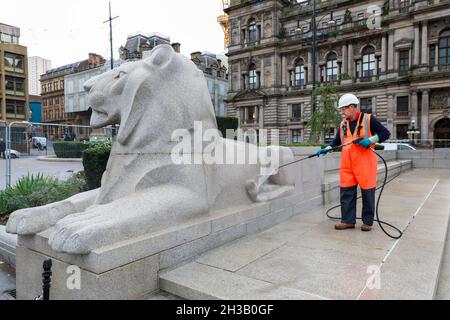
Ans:
{"type": "Polygon", "coordinates": [[[336,87],[332,83],[327,83],[319,88],[318,96],[320,100],[317,103],[316,112],[311,115],[308,123],[311,130],[309,136],[311,143],[323,141],[325,133],[332,128],[338,128],[341,122],[341,115],[336,108],[339,99],[336,87]]]}

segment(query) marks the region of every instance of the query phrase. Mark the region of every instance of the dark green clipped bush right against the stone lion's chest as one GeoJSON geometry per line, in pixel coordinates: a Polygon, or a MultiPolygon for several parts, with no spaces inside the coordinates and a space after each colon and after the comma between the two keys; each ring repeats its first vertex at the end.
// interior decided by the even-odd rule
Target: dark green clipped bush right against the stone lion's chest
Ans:
{"type": "Polygon", "coordinates": [[[93,147],[84,150],[83,167],[89,190],[101,186],[102,175],[106,170],[110,153],[111,142],[95,143],[93,147]]]}

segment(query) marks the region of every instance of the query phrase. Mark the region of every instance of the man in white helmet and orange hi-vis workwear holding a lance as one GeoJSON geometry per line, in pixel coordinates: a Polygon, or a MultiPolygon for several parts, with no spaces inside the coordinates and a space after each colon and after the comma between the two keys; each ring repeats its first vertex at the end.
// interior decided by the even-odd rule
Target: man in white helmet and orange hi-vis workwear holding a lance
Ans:
{"type": "Polygon", "coordinates": [[[353,94],[344,94],[339,99],[338,108],[345,119],[331,145],[316,152],[319,157],[334,147],[359,139],[357,143],[342,148],[340,168],[342,217],[341,223],[335,225],[336,230],[355,228],[358,185],[363,201],[361,230],[372,230],[378,165],[377,157],[370,149],[374,148],[376,143],[389,139],[391,135],[375,116],[361,113],[358,107],[359,100],[353,94]]]}

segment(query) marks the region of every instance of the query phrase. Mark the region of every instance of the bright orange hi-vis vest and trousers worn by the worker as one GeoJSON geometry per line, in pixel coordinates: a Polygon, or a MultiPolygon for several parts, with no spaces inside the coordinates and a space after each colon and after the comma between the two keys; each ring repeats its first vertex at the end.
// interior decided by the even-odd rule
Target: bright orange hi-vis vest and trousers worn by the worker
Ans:
{"type": "MultiPolygon", "coordinates": [[[[370,114],[359,114],[355,132],[350,131],[350,123],[341,123],[340,135],[342,144],[348,144],[359,138],[370,138],[370,114]]],[[[372,152],[375,144],[369,149],[359,144],[351,144],[342,148],[340,179],[341,187],[348,188],[359,185],[361,189],[373,189],[377,185],[377,156],[372,152]]]]}

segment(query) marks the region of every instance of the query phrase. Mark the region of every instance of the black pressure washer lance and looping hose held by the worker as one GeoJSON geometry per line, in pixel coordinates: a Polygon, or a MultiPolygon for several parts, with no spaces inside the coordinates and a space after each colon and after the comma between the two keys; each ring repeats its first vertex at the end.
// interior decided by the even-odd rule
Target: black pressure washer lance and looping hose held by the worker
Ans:
{"type": "MultiPolygon", "coordinates": [[[[352,142],[349,142],[349,143],[342,144],[342,145],[340,145],[340,146],[331,148],[331,149],[329,149],[329,150],[327,151],[327,153],[333,152],[333,151],[336,151],[336,150],[339,150],[339,149],[341,149],[341,148],[343,148],[343,147],[347,147],[347,146],[352,145],[352,144],[358,144],[361,140],[362,140],[362,138],[356,139],[356,140],[353,140],[352,142]]],[[[387,169],[387,163],[386,163],[386,160],[384,160],[384,158],[383,158],[381,155],[379,155],[378,153],[376,153],[373,149],[371,149],[371,150],[372,150],[373,153],[375,153],[375,154],[383,161],[384,168],[385,168],[385,170],[384,170],[384,180],[383,180],[383,183],[382,183],[381,186],[379,186],[378,188],[375,189],[375,191],[380,190],[380,189],[381,189],[381,190],[380,190],[380,193],[378,194],[377,204],[376,204],[376,207],[375,207],[376,219],[375,219],[374,221],[378,222],[378,225],[380,226],[381,230],[382,230],[388,237],[390,237],[390,238],[392,238],[392,239],[400,239],[400,238],[403,236],[403,232],[402,232],[400,229],[398,229],[397,227],[393,226],[392,224],[387,223],[387,222],[385,222],[385,221],[383,221],[383,220],[380,220],[380,217],[379,217],[379,214],[378,214],[378,205],[380,204],[380,199],[381,199],[381,195],[383,194],[384,187],[386,186],[386,184],[388,184],[389,182],[391,182],[392,180],[394,180],[395,178],[397,178],[400,174],[396,175],[396,176],[393,177],[391,180],[387,181],[388,169],[387,169]],[[387,226],[393,228],[394,230],[396,230],[396,231],[399,233],[399,235],[398,235],[398,236],[393,236],[392,234],[390,234],[389,232],[387,232],[386,229],[384,229],[383,225],[387,225],[387,226]]],[[[286,163],[286,164],[284,164],[284,165],[278,167],[278,169],[277,169],[276,171],[278,171],[278,170],[281,169],[281,168],[290,166],[290,165],[292,165],[292,164],[294,164],[294,163],[302,162],[302,161],[305,161],[305,160],[308,160],[308,159],[311,159],[311,158],[314,158],[314,157],[317,157],[317,154],[311,154],[311,155],[307,156],[306,158],[303,158],[303,159],[300,159],[300,160],[296,160],[296,161],[293,161],[293,162],[290,162],[290,163],[286,163]]],[[[357,199],[361,199],[361,198],[362,198],[362,196],[359,196],[357,199]]],[[[330,218],[330,219],[333,219],[333,220],[341,220],[340,217],[332,217],[332,216],[330,216],[330,214],[329,214],[330,211],[332,211],[332,210],[334,210],[334,209],[337,209],[337,208],[340,208],[340,207],[341,207],[341,205],[339,204],[339,205],[337,205],[337,206],[334,206],[334,207],[328,209],[327,212],[326,212],[327,217],[330,218]]],[[[362,218],[356,218],[356,219],[362,220],[362,218]]]]}

